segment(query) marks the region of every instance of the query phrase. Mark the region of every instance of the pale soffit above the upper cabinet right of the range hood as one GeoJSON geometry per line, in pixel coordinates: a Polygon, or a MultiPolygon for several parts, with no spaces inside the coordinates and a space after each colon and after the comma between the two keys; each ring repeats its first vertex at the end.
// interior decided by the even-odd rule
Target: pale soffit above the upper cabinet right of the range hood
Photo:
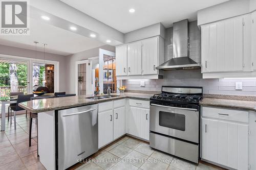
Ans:
{"type": "Polygon", "coordinates": [[[199,10],[197,14],[198,25],[246,14],[250,12],[250,1],[251,5],[255,3],[255,0],[232,0],[199,10]]]}

